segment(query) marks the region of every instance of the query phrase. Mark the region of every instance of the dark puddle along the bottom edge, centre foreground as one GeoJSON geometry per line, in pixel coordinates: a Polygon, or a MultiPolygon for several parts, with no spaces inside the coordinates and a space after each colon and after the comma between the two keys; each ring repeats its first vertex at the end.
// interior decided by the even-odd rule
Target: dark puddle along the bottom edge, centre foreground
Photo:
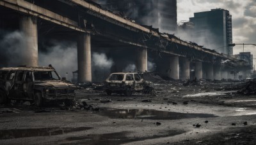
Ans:
{"type": "MultiPolygon", "coordinates": [[[[143,141],[146,139],[156,139],[160,137],[173,136],[185,133],[184,130],[169,130],[168,132],[159,132],[157,135],[146,137],[128,137],[132,132],[115,132],[110,134],[88,134],[79,137],[68,137],[60,144],[124,144],[133,141],[143,141]]],[[[145,134],[147,134],[145,132],[145,134]]]]}

